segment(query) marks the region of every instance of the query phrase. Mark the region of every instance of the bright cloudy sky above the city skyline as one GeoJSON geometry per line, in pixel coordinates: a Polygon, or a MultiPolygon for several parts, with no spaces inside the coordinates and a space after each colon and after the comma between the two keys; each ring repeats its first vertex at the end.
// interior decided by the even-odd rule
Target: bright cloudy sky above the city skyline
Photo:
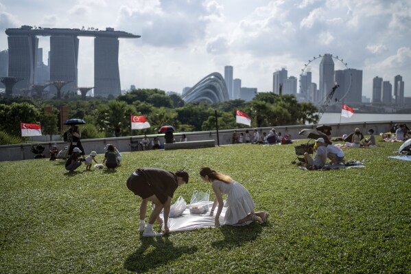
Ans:
{"type": "MultiPolygon", "coordinates": [[[[120,38],[121,89],[181,93],[209,73],[233,66],[242,87],[272,91],[272,73],[305,69],[318,83],[319,54],[336,69],[363,71],[362,95],[375,76],[398,74],[411,96],[411,0],[0,0],[0,50],[5,30],[94,27],[141,35],[120,38]],[[347,65],[343,65],[347,63],[347,65]]],[[[47,64],[49,37],[39,37],[47,64]]],[[[93,38],[80,37],[78,86],[93,87],[93,38]]]]}

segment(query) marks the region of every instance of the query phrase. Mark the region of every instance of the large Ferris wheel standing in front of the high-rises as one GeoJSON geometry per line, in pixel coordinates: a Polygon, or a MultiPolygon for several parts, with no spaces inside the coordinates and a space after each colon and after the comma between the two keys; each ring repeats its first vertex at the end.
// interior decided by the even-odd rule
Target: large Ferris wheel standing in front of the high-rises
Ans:
{"type": "MultiPolygon", "coordinates": [[[[318,64],[319,65],[319,64],[318,64]]],[[[304,68],[301,69],[301,74],[300,74],[300,91],[305,95],[305,99],[308,102],[314,102],[315,104],[318,104],[319,106],[322,106],[323,109],[327,109],[327,106],[331,103],[331,99],[334,99],[335,102],[342,102],[344,98],[347,97],[349,94],[349,91],[351,89],[351,71],[349,70],[348,63],[344,62],[343,58],[340,58],[338,56],[333,56],[333,54],[324,54],[321,55],[319,54],[318,56],[314,56],[312,59],[309,59],[307,63],[304,64],[304,68]],[[333,89],[329,89],[327,91],[324,91],[322,94],[318,96],[318,98],[315,98],[312,94],[309,94],[309,90],[307,86],[302,82],[301,79],[304,78],[304,76],[307,76],[307,73],[311,70],[314,64],[318,64],[319,60],[322,60],[322,58],[325,58],[325,56],[331,57],[333,60],[333,63],[336,67],[339,67],[342,71],[345,71],[344,73],[344,80],[342,80],[341,83],[338,82],[338,76],[337,73],[335,73],[333,82],[335,82],[335,86],[333,89]],[[341,84],[341,89],[338,90],[338,93],[335,94],[335,91],[337,87],[340,87],[341,84]]]]}

